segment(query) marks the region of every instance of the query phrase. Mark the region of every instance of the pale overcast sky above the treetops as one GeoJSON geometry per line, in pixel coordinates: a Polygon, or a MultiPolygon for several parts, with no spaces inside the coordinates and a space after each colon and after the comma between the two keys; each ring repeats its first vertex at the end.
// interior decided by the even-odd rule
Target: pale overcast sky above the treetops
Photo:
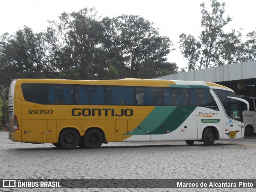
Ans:
{"type": "MultiPolygon", "coordinates": [[[[179,35],[182,33],[198,37],[202,14],[200,4],[204,2],[210,12],[210,0],[0,0],[0,36],[6,32],[14,34],[23,26],[35,33],[45,30],[47,20],[58,20],[62,12],[77,12],[82,8],[94,7],[102,17],[140,15],[154,22],[160,36],[167,36],[175,51],[168,55],[168,62],[176,62],[179,68],[187,66],[179,49],[179,35]]],[[[225,2],[225,16],[232,21],[225,26],[225,32],[242,28],[243,41],[246,34],[256,28],[256,0],[218,0],[225,2]]]]}

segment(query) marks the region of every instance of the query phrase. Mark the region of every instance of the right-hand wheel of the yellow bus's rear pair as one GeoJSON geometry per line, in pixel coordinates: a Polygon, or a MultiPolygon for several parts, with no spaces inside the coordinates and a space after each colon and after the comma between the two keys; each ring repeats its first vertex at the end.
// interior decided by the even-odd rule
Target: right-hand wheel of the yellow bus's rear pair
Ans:
{"type": "Polygon", "coordinates": [[[89,130],[82,139],[82,144],[86,148],[99,148],[103,143],[103,135],[97,129],[89,130]]]}

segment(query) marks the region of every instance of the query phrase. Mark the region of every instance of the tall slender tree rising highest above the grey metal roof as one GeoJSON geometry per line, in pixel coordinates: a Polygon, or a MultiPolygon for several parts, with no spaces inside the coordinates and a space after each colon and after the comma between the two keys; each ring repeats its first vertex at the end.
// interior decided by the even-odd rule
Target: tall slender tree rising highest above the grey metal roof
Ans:
{"type": "Polygon", "coordinates": [[[212,12],[206,10],[204,3],[200,4],[201,27],[204,28],[199,37],[203,48],[200,65],[205,68],[218,65],[220,57],[218,41],[223,34],[223,27],[232,20],[229,16],[226,19],[223,18],[225,3],[220,4],[217,0],[210,1],[212,12]]]}

